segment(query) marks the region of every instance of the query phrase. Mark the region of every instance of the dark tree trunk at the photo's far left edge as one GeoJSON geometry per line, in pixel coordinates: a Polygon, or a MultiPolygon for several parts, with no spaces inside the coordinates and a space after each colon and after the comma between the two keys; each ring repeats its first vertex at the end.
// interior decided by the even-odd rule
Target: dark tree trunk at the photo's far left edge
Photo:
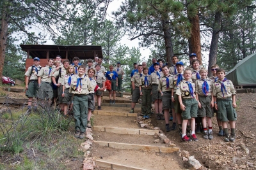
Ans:
{"type": "Polygon", "coordinates": [[[3,6],[1,13],[1,30],[0,30],[0,80],[3,76],[4,58],[7,46],[7,31],[8,31],[8,13],[6,6],[3,6]]]}

